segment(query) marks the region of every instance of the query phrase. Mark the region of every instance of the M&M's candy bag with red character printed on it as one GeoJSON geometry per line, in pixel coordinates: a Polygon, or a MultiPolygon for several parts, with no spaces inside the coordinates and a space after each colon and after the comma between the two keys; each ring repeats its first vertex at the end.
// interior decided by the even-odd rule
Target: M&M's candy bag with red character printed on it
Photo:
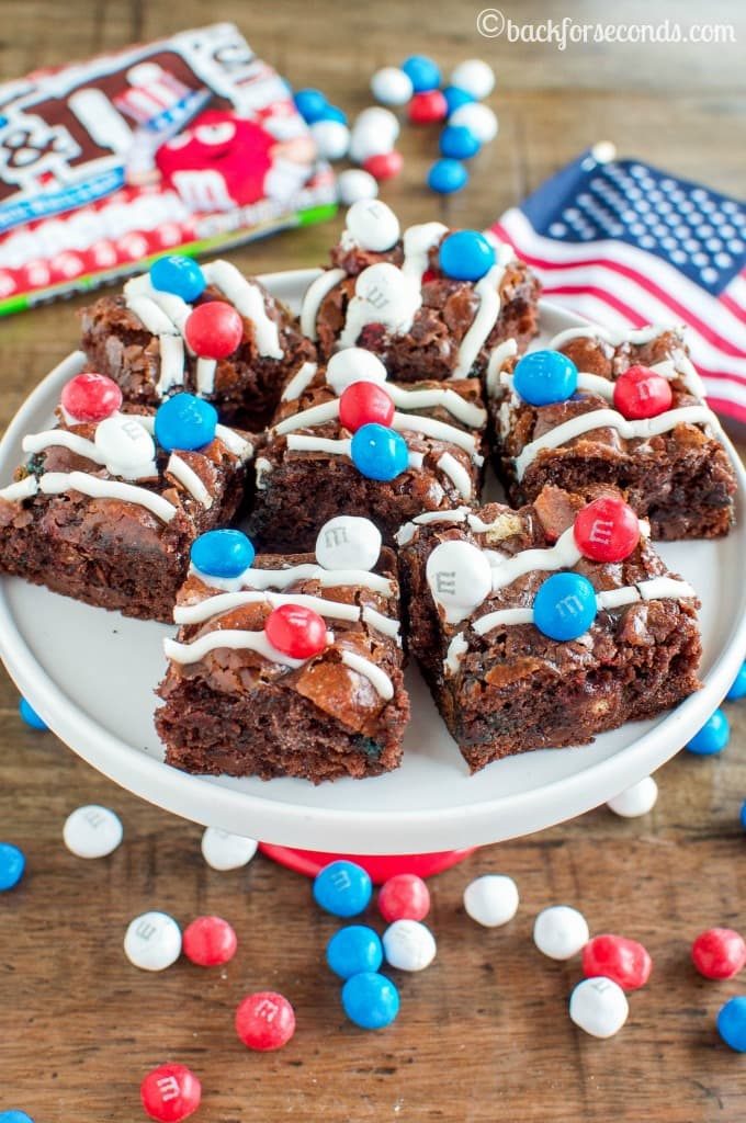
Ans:
{"type": "Polygon", "coordinates": [[[335,199],[288,83],[230,24],[29,74],[0,86],[0,313],[335,199]]]}

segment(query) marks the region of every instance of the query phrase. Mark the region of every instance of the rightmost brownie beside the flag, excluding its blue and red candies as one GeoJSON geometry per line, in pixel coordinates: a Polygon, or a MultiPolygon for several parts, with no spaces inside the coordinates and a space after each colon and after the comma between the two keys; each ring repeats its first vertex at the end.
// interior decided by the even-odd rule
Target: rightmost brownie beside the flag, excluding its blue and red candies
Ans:
{"type": "Polygon", "coordinates": [[[548,347],[567,355],[580,372],[567,400],[547,405],[524,401],[511,386],[517,356],[510,344],[495,355],[488,377],[495,467],[510,502],[530,502],[546,484],[582,492],[609,483],[622,489],[637,513],[649,520],[654,538],[727,533],[736,475],[682,334],[653,327],[624,335],[589,326],[562,331],[548,347]],[[615,405],[615,386],[640,366],[668,381],[671,404],[659,416],[630,424],[615,405]],[[575,437],[571,430],[556,447],[543,447],[556,441],[552,435],[558,426],[583,424],[579,419],[599,410],[607,411],[601,424],[575,437]]]}

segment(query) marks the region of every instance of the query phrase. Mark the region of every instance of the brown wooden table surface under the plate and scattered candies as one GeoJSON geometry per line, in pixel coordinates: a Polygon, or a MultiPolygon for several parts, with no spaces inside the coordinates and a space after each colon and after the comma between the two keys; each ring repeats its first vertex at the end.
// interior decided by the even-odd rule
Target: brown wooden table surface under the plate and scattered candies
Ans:
{"type": "MultiPolygon", "coordinates": [[[[502,3],[518,22],[554,16],[551,3],[502,3]]],[[[233,19],[252,45],[298,85],[320,85],[349,111],[369,103],[376,65],[412,52],[445,66],[484,56],[497,67],[492,103],[500,136],[474,165],[473,183],[443,203],[424,188],[436,135],[404,129],[403,176],[384,197],[404,222],[443,216],[486,225],[589,144],[613,140],[674,173],[738,193],[744,182],[746,21],[734,3],[688,12],[680,3],[568,6],[576,20],[689,22],[688,13],[735,27],[736,46],[625,47],[560,52],[481,39],[481,3],[425,0],[372,4],[224,0],[25,0],[0,4],[0,74],[15,77],[209,18],[233,19]]],[[[234,255],[248,271],[312,265],[340,223],[309,228],[234,255]]],[[[0,419],[7,423],[38,378],[75,345],[81,300],[17,316],[0,327],[0,419]]],[[[85,674],[81,666],[80,673],[85,674]]],[[[746,796],[740,748],[746,705],[729,706],[734,736],[722,758],[683,754],[658,776],[652,814],[624,821],[599,810],[544,834],[477,851],[431,883],[435,965],[401,976],[402,1010],[389,1030],[366,1034],[342,1015],[324,967],[331,917],[311,906],[307,880],[263,858],[218,874],[200,855],[200,829],[139,802],[99,776],[51,733],[28,730],[17,693],[0,684],[0,836],[28,857],[22,884],[0,901],[2,1038],[0,1112],[25,1108],[36,1123],[135,1123],[138,1084],[165,1059],[203,1081],[203,1123],[301,1120],[504,1120],[507,1123],[739,1123],[746,1120],[744,1061],[713,1029],[720,1004],[745,989],[698,977],[689,944],[715,924],[746,926],[746,796]],[[83,803],[116,809],[125,842],[83,862],[62,844],[65,816],[83,803]],[[740,870],[739,870],[740,866],[740,870]],[[464,914],[461,897],[479,874],[518,882],[521,906],[504,929],[464,914]],[[591,930],[636,937],[655,970],[631,996],[626,1029],[601,1042],[566,1013],[577,962],[534,949],[535,914],[566,902],[591,930]],[[148,909],[182,924],[218,913],[235,925],[236,959],[224,970],[179,962],[162,975],[130,967],[121,941],[148,909]],[[234,1035],[240,997],[275,988],[292,1001],[298,1032],[275,1054],[252,1054],[234,1035]]]]}

